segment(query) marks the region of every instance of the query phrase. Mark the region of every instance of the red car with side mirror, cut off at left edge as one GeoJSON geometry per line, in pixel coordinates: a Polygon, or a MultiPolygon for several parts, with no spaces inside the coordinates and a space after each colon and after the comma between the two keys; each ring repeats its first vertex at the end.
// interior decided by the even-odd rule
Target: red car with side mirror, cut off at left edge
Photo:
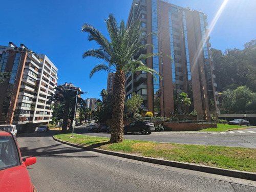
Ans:
{"type": "Polygon", "coordinates": [[[37,191],[31,183],[27,166],[36,162],[35,157],[22,160],[16,138],[0,131],[0,191],[37,191]]]}

